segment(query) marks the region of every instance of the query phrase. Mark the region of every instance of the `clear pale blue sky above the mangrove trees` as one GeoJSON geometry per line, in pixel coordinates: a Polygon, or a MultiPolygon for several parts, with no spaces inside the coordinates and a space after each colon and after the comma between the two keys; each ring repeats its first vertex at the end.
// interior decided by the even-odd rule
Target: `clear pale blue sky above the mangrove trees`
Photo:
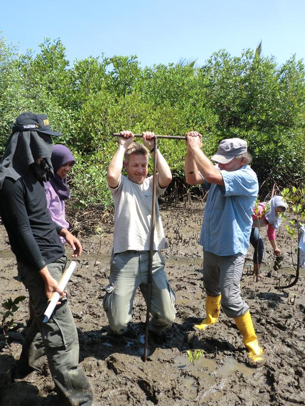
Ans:
{"type": "Polygon", "coordinates": [[[284,63],[305,57],[304,0],[31,0],[1,5],[0,31],[20,51],[60,38],[70,63],[89,55],[138,56],[141,66],[255,49],[284,63]]]}

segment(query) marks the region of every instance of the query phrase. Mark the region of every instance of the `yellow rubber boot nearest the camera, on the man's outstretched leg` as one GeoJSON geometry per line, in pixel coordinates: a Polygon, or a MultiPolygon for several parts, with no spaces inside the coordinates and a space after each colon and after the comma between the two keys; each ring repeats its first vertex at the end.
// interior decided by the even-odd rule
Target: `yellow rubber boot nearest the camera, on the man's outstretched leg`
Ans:
{"type": "Polygon", "coordinates": [[[236,317],[234,320],[243,336],[243,343],[249,351],[250,361],[254,364],[263,362],[263,349],[258,344],[249,310],[243,316],[236,317]]]}

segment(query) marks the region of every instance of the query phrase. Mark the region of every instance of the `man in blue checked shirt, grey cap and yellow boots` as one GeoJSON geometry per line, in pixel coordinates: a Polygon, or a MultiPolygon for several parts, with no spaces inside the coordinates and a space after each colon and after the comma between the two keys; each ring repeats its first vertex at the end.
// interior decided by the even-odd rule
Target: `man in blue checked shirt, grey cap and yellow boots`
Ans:
{"type": "Polygon", "coordinates": [[[217,322],[220,307],[233,318],[252,363],[263,360],[249,306],[240,295],[240,278],[249,247],[252,213],[258,193],[247,142],[223,140],[212,160],[202,151],[202,136],[186,134],[186,181],[209,190],[199,244],[203,247],[203,285],[206,318],[195,327],[205,330],[217,322]]]}

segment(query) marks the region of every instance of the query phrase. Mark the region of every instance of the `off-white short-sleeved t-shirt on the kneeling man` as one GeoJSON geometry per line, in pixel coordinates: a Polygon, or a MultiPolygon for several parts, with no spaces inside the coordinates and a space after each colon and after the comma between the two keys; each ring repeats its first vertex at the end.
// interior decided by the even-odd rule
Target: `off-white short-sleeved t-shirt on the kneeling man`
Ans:
{"type": "MultiPolygon", "coordinates": [[[[157,197],[165,192],[158,184],[157,197]]],[[[151,204],[153,199],[153,177],[146,178],[140,185],[121,175],[118,186],[109,186],[114,201],[113,253],[128,250],[149,251],[151,204]]],[[[156,223],[154,250],[167,248],[156,197],[156,223]]]]}

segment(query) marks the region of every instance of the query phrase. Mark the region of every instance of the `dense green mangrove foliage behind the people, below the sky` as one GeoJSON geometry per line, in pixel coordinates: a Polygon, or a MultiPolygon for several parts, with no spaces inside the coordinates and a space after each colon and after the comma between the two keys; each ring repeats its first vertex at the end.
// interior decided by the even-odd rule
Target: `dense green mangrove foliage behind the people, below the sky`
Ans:
{"type": "MultiPolygon", "coordinates": [[[[303,61],[293,56],[278,65],[261,55],[260,46],[240,56],[221,50],[202,66],[193,61],[141,67],[135,55],[102,54],[72,63],[59,39],[45,39],[37,54],[20,54],[0,38],[0,155],[14,118],[31,110],[47,113],[63,134],[56,142],[78,157],[71,177],[74,208],[111,204],[105,181],[116,149],[111,133],[125,128],[178,136],[196,129],[207,156],[222,139],[243,138],[265,191],[274,183],[300,187],[304,90],[303,61]]],[[[184,142],[159,145],[184,194],[184,142]]]]}

